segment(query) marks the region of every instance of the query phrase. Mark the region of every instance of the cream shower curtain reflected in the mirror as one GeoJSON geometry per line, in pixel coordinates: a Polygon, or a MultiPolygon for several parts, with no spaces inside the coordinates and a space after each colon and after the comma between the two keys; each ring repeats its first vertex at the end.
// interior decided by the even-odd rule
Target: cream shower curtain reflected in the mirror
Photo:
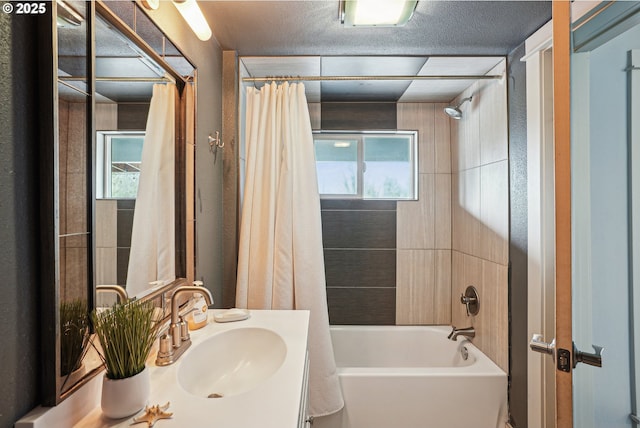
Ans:
{"type": "Polygon", "coordinates": [[[177,88],[153,85],[131,231],[127,292],[173,281],[175,259],[175,114],[177,88]]]}

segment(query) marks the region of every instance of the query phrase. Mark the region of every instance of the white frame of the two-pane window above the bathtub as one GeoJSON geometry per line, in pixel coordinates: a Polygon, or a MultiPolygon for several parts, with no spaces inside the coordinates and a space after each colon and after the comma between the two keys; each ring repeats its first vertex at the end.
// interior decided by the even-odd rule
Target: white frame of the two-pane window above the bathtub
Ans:
{"type": "MultiPolygon", "coordinates": [[[[313,130],[313,145],[315,155],[316,140],[335,140],[336,138],[357,140],[357,161],[356,161],[356,193],[355,194],[336,194],[336,193],[320,193],[320,199],[354,199],[366,201],[416,201],[418,200],[418,131],[414,130],[313,130]],[[364,195],[364,174],[366,172],[366,162],[364,160],[364,140],[366,137],[389,137],[389,136],[407,136],[410,140],[410,173],[413,194],[406,198],[370,198],[364,195]],[[320,136],[320,138],[318,138],[320,136]],[[325,138],[322,138],[325,137],[325,138]]],[[[317,160],[316,160],[317,162],[317,160]]],[[[318,190],[319,191],[319,190],[318,190]]]]}

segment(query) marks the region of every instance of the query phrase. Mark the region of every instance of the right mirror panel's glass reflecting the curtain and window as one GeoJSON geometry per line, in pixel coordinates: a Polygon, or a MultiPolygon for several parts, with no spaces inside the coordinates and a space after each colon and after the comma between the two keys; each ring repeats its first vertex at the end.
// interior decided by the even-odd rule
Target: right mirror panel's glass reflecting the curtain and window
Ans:
{"type": "MultiPolygon", "coordinates": [[[[125,15],[137,10],[133,2],[109,2],[108,6],[118,8],[125,15]]],[[[181,66],[176,70],[178,73],[193,75],[191,64],[146,15],[137,12],[134,22],[136,31],[143,34],[145,40],[151,40],[151,45],[162,46],[160,39],[165,40],[165,49],[166,46],[172,48],[164,59],[181,58],[174,60],[181,66]]],[[[158,99],[167,90],[157,87],[154,98],[154,85],[175,88],[168,70],[99,16],[95,69],[99,94],[95,115],[96,284],[117,284],[135,296],[148,289],[149,283],[168,283],[176,276],[175,231],[172,229],[175,227],[172,214],[175,190],[172,189],[175,189],[176,171],[172,150],[178,94],[171,89],[168,92],[173,101],[158,99]],[[154,102],[155,107],[151,108],[154,102]],[[155,114],[150,117],[150,113],[155,114]],[[173,126],[161,129],[164,125],[173,126]],[[147,135],[150,132],[154,135],[147,135]],[[153,146],[145,145],[145,141],[152,141],[153,146]],[[145,173],[152,175],[151,183],[145,182],[145,173]],[[161,174],[165,175],[161,177],[161,174]],[[157,191],[159,188],[161,191],[157,191]],[[158,231],[162,232],[160,237],[158,231]],[[148,258],[153,258],[155,263],[148,258]],[[135,265],[136,269],[129,269],[129,265],[135,265]],[[147,266],[146,270],[142,266],[147,266]],[[159,269],[167,266],[169,268],[159,269]]],[[[114,299],[113,293],[97,296],[98,304],[104,306],[112,304],[114,299]]]]}

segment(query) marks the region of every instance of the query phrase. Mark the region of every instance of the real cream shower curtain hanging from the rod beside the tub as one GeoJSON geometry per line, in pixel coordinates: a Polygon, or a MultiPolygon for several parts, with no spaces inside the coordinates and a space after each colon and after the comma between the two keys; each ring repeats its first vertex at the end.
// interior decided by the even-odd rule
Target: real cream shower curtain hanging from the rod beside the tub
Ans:
{"type": "Polygon", "coordinates": [[[342,408],[329,336],[313,138],[302,84],[247,88],[236,305],[310,310],[310,414],[342,408]]]}

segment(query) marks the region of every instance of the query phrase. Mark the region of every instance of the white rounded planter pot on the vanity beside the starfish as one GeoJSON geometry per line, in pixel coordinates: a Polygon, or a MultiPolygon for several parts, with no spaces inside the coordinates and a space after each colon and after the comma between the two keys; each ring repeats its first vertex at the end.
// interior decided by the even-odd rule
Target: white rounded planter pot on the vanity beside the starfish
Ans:
{"type": "Polygon", "coordinates": [[[102,380],[102,413],[111,419],[121,419],[140,411],[149,400],[151,384],[149,370],[126,379],[102,380]]]}

